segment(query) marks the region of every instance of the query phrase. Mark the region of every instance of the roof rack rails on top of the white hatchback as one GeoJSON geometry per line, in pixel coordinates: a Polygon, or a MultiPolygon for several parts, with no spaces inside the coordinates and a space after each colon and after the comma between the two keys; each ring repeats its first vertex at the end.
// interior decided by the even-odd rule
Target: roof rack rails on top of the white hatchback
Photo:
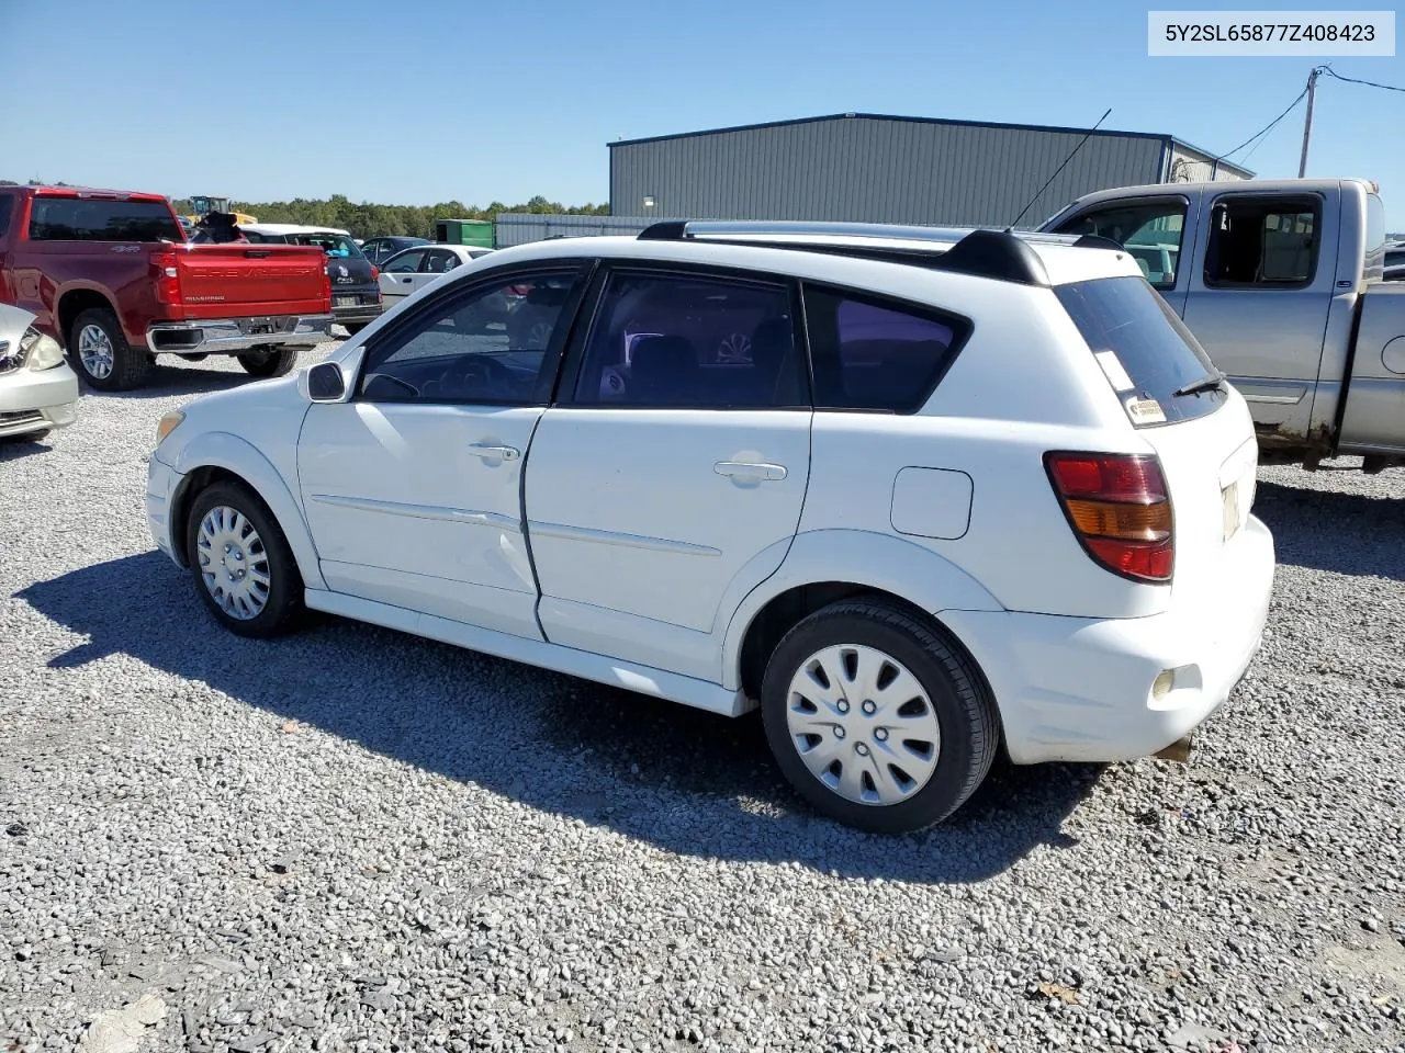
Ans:
{"type": "Polygon", "coordinates": [[[641,241],[710,241],[766,249],[854,256],[906,263],[936,271],[981,278],[1048,285],[1048,272],[1035,244],[1078,249],[1117,249],[1116,241],[1083,234],[1045,234],[988,227],[898,226],[891,223],[839,223],[805,220],[695,220],[666,219],[639,234],[641,241]],[[826,240],[832,239],[832,240],[826,240]],[[847,239],[847,240],[846,240],[847,239]],[[924,246],[913,246],[922,241],[924,246]],[[927,247],[930,246],[930,247],[927,247]]]}

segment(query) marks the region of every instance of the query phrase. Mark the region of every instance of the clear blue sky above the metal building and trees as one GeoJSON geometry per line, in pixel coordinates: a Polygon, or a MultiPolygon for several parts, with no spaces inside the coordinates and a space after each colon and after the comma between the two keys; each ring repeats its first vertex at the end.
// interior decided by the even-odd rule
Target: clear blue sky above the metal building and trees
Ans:
{"type": "MultiPolygon", "coordinates": [[[[1087,126],[1111,107],[1107,128],[1218,153],[1287,107],[1312,65],[1152,59],[1146,10],[0,0],[0,178],[236,201],[583,204],[608,197],[610,140],[844,111],[1087,126]]],[[[1331,62],[1405,86],[1402,58],[1331,62]]],[[[1300,108],[1234,160],[1295,176],[1301,133],[1300,108]]],[[[1405,227],[1405,94],[1324,79],[1308,174],[1378,180],[1391,227],[1405,227]]]]}

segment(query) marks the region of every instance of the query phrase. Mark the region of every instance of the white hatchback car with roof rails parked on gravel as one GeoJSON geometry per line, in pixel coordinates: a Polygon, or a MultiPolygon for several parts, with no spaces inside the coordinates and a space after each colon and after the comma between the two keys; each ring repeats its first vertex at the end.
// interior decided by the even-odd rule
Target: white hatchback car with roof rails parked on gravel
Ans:
{"type": "Polygon", "coordinates": [[[1002,744],[1177,743],[1273,581],[1243,400],[1099,239],[520,246],[159,435],[152,534],[233,632],[308,607],[759,705],[797,789],[877,831],[948,816],[1002,744]],[[549,324],[504,323],[509,289],[549,324]]]}

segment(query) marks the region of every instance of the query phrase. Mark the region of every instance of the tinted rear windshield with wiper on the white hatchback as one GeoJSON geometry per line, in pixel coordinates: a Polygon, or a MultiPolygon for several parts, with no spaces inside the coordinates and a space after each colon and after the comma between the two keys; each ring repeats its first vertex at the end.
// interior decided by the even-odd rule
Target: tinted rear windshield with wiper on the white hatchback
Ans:
{"type": "Polygon", "coordinates": [[[1204,417],[1220,409],[1222,388],[1176,395],[1215,375],[1210,357],[1166,302],[1141,278],[1099,278],[1054,289],[1083,334],[1132,424],[1145,427],[1204,417]]]}

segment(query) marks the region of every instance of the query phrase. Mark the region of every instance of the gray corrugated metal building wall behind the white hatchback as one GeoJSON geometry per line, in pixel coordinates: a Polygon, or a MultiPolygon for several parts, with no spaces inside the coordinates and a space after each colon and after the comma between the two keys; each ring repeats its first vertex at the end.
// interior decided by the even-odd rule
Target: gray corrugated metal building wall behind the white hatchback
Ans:
{"type": "MultiPolygon", "coordinates": [[[[1082,136],[854,117],[614,143],[610,209],[652,197],[651,212],[694,219],[1006,225],[1082,136]]],[[[1165,143],[1090,136],[1020,226],[1093,190],[1156,183],[1165,143]]]]}

